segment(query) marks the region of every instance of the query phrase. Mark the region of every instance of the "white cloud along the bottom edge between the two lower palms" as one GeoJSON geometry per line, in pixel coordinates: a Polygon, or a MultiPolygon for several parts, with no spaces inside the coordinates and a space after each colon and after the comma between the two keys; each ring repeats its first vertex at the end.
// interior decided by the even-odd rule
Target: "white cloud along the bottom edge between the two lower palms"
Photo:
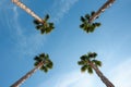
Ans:
{"type": "Polygon", "coordinates": [[[70,72],[56,77],[40,84],[38,87],[44,87],[45,85],[48,85],[48,87],[92,87],[94,80],[94,76],[81,74],[81,72],[70,72]],[[53,80],[55,84],[50,80],[53,80]],[[49,85],[49,83],[51,84],[49,85]]]}

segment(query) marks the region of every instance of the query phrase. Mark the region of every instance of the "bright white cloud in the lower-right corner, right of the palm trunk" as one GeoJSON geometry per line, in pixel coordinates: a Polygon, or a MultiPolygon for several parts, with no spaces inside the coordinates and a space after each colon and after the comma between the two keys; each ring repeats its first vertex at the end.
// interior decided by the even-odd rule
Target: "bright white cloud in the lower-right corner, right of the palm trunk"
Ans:
{"type": "Polygon", "coordinates": [[[112,82],[116,87],[131,87],[131,59],[128,59],[112,70],[112,82]]]}

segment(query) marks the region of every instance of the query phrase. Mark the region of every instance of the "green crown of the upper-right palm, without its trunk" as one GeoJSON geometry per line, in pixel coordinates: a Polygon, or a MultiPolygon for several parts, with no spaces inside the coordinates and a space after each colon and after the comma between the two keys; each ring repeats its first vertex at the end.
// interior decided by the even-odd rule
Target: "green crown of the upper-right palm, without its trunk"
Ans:
{"type": "Polygon", "coordinates": [[[82,24],[80,25],[80,28],[82,28],[86,33],[93,33],[96,27],[99,27],[100,23],[90,23],[90,18],[94,14],[95,12],[93,11],[91,14],[85,14],[85,16],[81,16],[82,24]]]}

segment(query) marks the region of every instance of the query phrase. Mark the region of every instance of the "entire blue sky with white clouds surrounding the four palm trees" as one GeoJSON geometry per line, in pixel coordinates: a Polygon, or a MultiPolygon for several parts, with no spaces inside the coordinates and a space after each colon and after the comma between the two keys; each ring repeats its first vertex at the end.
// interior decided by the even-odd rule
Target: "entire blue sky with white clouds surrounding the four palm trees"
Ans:
{"type": "Polygon", "coordinates": [[[76,62],[88,51],[97,52],[100,71],[116,87],[131,87],[131,0],[117,0],[96,22],[102,26],[84,33],[80,16],[96,11],[106,0],[22,0],[40,17],[50,14],[56,28],[40,35],[34,17],[11,0],[0,1],[0,86],[9,87],[34,66],[33,58],[48,53],[53,69],[37,71],[22,87],[105,87],[94,73],[81,73],[76,62]]]}

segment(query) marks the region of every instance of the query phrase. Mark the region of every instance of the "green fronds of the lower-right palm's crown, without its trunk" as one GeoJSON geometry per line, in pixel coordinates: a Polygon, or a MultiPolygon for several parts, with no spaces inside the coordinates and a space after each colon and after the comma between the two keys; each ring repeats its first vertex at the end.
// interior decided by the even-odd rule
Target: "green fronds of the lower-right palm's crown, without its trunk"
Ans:
{"type": "Polygon", "coordinates": [[[91,66],[91,62],[96,66],[102,66],[102,62],[96,60],[97,53],[88,52],[87,54],[82,55],[81,61],[78,62],[79,65],[82,65],[81,71],[87,71],[90,74],[93,74],[93,69],[91,66]]]}

